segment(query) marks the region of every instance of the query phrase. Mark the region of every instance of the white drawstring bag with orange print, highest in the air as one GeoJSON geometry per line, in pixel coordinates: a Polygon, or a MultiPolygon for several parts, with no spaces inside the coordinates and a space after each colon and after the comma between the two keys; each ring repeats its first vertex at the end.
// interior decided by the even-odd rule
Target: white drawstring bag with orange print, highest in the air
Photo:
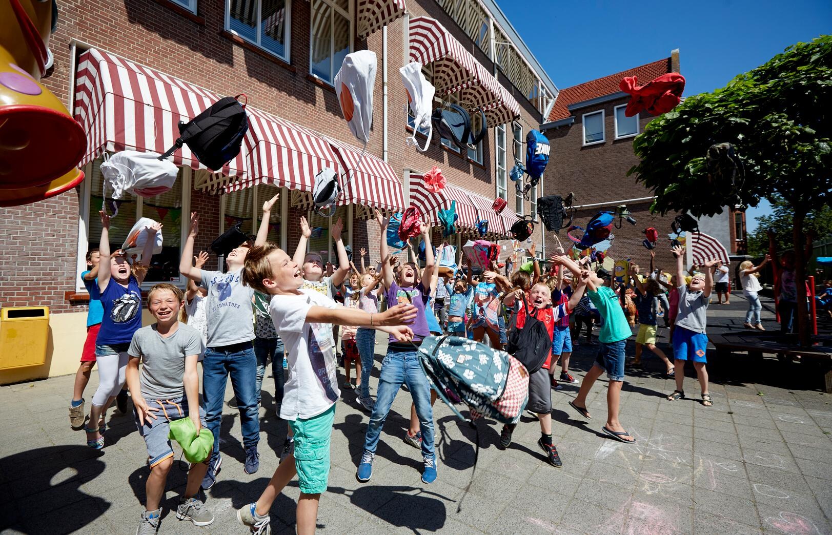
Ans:
{"type": "Polygon", "coordinates": [[[359,50],[347,54],[335,75],[335,93],[349,130],[364,146],[373,126],[373,88],[375,87],[375,52],[359,50]]]}

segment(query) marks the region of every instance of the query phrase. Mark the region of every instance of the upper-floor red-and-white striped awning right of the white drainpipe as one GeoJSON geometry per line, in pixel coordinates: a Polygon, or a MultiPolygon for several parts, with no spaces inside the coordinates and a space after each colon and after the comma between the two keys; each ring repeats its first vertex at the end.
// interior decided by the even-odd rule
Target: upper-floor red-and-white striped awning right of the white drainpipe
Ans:
{"type": "Polygon", "coordinates": [[[437,20],[413,17],[409,25],[409,61],[433,63],[433,86],[440,95],[460,92],[468,108],[481,107],[490,126],[520,115],[520,105],[437,20]]]}

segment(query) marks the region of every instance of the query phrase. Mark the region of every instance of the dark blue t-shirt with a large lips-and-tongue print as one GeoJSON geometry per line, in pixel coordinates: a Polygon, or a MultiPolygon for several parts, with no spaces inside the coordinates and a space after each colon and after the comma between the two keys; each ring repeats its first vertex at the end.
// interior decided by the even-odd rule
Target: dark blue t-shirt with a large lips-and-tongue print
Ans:
{"type": "Polygon", "coordinates": [[[136,277],[130,275],[126,286],[110,277],[101,292],[104,309],[102,327],[96,344],[130,344],[133,333],[141,329],[141,288],[136,277]]]}

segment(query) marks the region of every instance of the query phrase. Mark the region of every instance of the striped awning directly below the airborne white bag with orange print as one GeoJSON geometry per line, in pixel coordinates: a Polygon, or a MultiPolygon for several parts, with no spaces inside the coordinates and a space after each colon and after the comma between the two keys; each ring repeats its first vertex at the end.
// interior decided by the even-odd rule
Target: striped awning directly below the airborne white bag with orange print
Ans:
{"type": "MultiPolygon", "coordinates": [[[[369,209],[376,208],[385,215],[404,211],[402,181],[396,171],[384,160],[362,150],[325,137],[340,158],[346,173],[340,176],[342,191],[338,206],[354,204],[369,209]]],[[[372,212],[364,211],[365,215],[372,212]]]]}

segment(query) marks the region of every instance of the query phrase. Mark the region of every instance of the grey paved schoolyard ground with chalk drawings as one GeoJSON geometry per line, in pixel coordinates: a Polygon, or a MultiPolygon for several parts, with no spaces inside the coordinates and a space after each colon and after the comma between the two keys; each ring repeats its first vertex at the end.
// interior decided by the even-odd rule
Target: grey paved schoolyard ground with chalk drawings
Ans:
{"type": "MultiPolygon", "coordinates": [[[[734,295],[730,306],[711,306],[709,322],[714,329],[741,328],[744,310],[745,301],[734,295]]],[[[767,303],[767,328],[775,328],[772,320],[767,303]]],[[[670,354],[667,329],[661,336],[670,354]]],[[[577,379],[592,365],[595,349],[576,349],[570,367],[577,379]]],[[[373,387],[384,350],[381,340],[373,387]]],[[[693,369],[685,384],[691,399],[670,402],[664,396],[674,384],[663,378],[661,361],[645,354],[643,363],[641,369],[627,367],[622,391],[621,421],[635,444],[601,433],[604,381],[587,399],[590,420],[567,405],[579,385],[552,391],[563,468],[544,461],[539,425],[524,415],[506,451],[496,448],[500,426],[479,424],[474,470],[474,430],[438,402],[438,479],[429,485],[420,481],[421,454],[402,440],[410,405],[404,390],[384,426],[372,480],[356,481],[368,414],[354,392],[345,391],[335,413],[318,533],[832,533],[832,395],[820,391],[818,377],[799,364],[774,358],[746,363],[736,355],[709,364],[714,406],[704,407],[693,369]]],[[[0,533],[136,531],[148,474],[144,442],[130,415],[115,414],[102,452],[87,448],[84,433],[72,430],[67,418],[72,379],[0,388],[0,533]]],[[[87,399],[96,384],[93,373],[87,399]]],[[[215,523],[196,528],[171,514],[186,480],[174,467],[160,533],[247,533],[236,523],[235,509],[258,498],[285,440],[273,392],[267,377],[260,471],[243,472],[239,415],[226,406],[222,470],[206,496],[215,523]]],[[[230,386],[226,399],[233,399],[230,386]]],[[[277,498],[272,533],[295,533],[299,494],[294,481],[277,498]]]]}

